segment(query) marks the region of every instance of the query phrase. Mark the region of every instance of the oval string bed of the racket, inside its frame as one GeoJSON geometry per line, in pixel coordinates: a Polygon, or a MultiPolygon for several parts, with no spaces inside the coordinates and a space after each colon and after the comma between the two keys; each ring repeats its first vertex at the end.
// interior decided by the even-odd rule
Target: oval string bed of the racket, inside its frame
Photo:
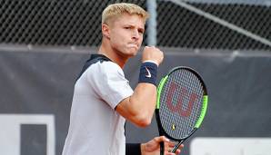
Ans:
{"type": "Polygon", "coordinates": [[[194,129],[202,109],[201,82],[193,73],[179,70],[170,74],[162,92],[159,112],[163,128],[171,137],[186,137],[194,129]]]}

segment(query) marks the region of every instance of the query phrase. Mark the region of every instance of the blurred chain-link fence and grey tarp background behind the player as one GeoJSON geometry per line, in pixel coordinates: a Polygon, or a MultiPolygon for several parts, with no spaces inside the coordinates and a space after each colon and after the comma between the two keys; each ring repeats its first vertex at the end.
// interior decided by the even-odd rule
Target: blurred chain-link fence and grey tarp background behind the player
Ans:
{"type": "MultiPolygon", "coordinates": [[[[143,46],[165,53],[158,80],[186,65],[206,81],[206,119],[181,154],[271,154],[271,0],[0,0],[1,155],[61,154],[75,79],[117,2],[151,15],[143,46]]],[[[140,58],[125,66],[133,88],[140,58]]],[[[128,142],[155,136],[155,119],[127,122],[128,142]]]]}

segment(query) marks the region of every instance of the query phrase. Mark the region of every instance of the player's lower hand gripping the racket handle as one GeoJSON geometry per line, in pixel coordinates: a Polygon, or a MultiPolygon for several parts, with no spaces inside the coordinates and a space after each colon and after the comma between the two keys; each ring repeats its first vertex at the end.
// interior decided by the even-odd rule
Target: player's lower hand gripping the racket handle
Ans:
{"type": "Polygon", "coordinates": [[[165,136],[156,137],[153,140],[149,140],[146,143],[141,144],[141,154],[142,155],[160,155],[160,142],[165,142],[165,155],[176,155],[181,152],[184,145],[182,144],[177,150],[176,153],[171,153],[173,150],[175,143],[166,139],[165,136]]]}

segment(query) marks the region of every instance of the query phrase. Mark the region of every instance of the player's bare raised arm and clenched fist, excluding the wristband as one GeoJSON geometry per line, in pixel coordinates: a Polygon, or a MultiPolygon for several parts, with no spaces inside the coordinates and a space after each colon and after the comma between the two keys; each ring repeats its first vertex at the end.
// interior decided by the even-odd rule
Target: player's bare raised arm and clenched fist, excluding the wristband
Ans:
{"type": "MultiPolygon", "coordinates": [[[[159,65],[163,58],[163,53],[156,47],[146,47],[143,51],[142,62],[151,61],[159,65]]],[[[135,125],[146,127],[152,121],[155,108],[156,85],[149,82],[139,82],[134,93],[119,102],[115,111],[135,125]]]]}

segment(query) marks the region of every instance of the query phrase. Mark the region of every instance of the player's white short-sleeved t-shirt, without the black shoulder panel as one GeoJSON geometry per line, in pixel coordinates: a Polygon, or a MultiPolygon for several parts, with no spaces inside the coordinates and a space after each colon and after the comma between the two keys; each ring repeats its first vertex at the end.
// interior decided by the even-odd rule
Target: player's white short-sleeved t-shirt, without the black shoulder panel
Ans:
{"type": "Polygon", "coordinates": [[[63,155],[125,155],[125,118],[116,105],[133,90],[113,62],[97,62],[75,83],[63,155]]]}

